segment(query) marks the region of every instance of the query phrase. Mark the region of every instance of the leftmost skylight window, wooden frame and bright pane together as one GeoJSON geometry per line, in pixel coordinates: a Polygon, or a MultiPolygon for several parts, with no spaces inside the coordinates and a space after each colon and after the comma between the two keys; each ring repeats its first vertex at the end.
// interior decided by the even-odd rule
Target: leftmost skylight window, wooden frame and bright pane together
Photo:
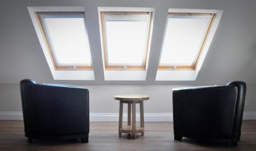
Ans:
{"type": "Polygon", "coordinates": [[[38,12],[37,16],[55,70],[92,70],[84,13],[38,12]]]}

